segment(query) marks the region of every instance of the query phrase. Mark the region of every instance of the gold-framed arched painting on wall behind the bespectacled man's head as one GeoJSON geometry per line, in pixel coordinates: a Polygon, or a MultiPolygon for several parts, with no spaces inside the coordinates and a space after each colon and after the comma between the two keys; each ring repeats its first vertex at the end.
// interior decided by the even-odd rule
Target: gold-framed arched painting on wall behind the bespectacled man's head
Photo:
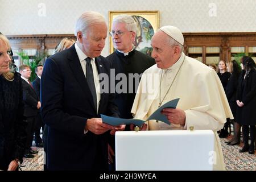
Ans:
{"type": "MultiPolygon", "coordinates": [[[[151,56],[151,38],[159,28],[159,11],[109,11],[109,30],[111,31],[115,16],[131,15],[137,23],[137,35],[133,42],[134,48],[151,56]]],[[[114,52],[112,37],[109,36],[109,53],[114,52]]]]}

